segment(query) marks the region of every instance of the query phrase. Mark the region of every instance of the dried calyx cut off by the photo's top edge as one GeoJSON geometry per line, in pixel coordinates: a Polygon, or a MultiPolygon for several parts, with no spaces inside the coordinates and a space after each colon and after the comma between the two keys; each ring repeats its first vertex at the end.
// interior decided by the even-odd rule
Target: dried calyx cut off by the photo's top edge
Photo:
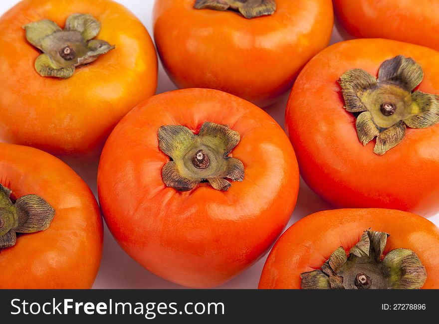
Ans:
{"type": "Polygon", "coordinates": [[[236,11],[251,19],[271,15],[276,11],[275,0],[196,0],[196,9],[214,9],[236,11]]]}

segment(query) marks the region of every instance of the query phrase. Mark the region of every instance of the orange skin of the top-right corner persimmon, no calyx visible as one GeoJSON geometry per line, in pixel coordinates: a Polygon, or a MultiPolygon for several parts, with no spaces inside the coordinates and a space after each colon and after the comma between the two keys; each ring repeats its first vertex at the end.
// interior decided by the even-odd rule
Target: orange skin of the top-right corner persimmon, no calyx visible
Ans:
{"type": "Polygon", "coordinates": [[[342,26],[355,37],[382,37],[439,50],[437,0],[334,0],[342,26]]]}

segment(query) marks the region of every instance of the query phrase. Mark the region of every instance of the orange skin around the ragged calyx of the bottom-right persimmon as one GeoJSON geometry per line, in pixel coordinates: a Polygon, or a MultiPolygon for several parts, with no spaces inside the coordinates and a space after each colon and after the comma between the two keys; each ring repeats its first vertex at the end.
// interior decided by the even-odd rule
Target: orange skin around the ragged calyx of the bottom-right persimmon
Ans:
{"type": "Polygon", "coordinates": [[[427,271],[422,289],[439,288],[439,229],[424,217],[379,208],[325,210],[294,223],[274,244],[258,288],[300,289],[301,273],[319,269],[339,246],[348,253],[369,227],[390,234],[384,255],[397,248],[418,255],[427,271]]]}

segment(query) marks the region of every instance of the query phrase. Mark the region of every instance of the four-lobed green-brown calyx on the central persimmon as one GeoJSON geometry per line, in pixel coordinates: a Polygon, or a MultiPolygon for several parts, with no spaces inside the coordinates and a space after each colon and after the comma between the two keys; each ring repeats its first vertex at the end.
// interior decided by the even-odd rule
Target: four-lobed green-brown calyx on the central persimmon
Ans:
{"type": "Polygon", "coordinates": [[[230,157],[240,136],[227,126],[205,122],[198,135],[185,126],[162,126],[158,138],[160,150],[171,158],[162,168],[168,187],[187,191],[208,181],[215,189],[227,191],[231,186],[227,179],[244,179],[244,165],[230,157]]]}

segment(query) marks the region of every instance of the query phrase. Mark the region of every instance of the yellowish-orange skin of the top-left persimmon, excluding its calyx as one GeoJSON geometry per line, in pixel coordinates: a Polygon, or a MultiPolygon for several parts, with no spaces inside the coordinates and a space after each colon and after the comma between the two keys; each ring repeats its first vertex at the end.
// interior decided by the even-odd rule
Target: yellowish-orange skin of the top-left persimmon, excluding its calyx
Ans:
{"type": "Polygon", "coordinates": [[[117,122],[157,86],[157,56],[148,31],[109,0],[24,0],[0,18],[0,138],[57,155],[102,147],[117,122]],[[21,27],[44,18],[64,27],[72,13],[101,22],[97,39],[116,46],[66,80],[40,76],[39,52],[21,27]],[[13,44],[13,46],[12,46],[13,44]]]}

